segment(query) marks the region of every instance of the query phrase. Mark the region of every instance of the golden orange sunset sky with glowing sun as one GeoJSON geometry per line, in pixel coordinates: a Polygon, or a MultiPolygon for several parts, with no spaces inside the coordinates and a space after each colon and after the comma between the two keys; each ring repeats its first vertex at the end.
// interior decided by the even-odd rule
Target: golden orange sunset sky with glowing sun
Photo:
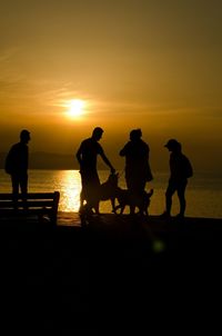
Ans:
{"type": "Polygon", "coordinates": [[[0,4],[0,151],[28,128],[30,151],[74,154],[101,126],[123,166],[141,128],[154,169],[176,138],[194,170],[222,171],[221,0],[0,4]]]}

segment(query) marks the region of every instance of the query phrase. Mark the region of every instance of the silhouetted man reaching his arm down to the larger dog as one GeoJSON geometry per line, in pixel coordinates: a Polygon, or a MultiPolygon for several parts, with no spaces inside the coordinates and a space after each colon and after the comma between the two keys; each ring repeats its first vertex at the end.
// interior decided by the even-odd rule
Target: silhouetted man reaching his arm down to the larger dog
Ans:
{"type": "Polygon", "coordinates": [[[80,194],[80,213],[83,210],[83,202],[87,201],[87,210],[92,208],[99,214],[99,188],[100,179],[97,171],[97,157],[101,156],[105,165],[114,172],[115,169],[104,155],[104,151],[99,144],[102,138],[103,129],[95,127],[92,131],[91,138],[83,140],[77,151],[77,159],[80,164],[80,174],[82,190],[80,194]]]}

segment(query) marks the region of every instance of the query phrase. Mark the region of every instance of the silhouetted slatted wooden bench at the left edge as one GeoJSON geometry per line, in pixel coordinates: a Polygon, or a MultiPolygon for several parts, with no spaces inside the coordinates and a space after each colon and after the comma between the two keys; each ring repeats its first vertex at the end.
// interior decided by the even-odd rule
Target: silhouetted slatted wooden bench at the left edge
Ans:
{"type": "Polygon", "coordinates": [[[38,216],[38,220],[50,220],[57,224],[60,192],[30,192],[22,199],[21,194],[14,202],[12,194],[0,194],[0,218],[21,218],[38,216]]]}

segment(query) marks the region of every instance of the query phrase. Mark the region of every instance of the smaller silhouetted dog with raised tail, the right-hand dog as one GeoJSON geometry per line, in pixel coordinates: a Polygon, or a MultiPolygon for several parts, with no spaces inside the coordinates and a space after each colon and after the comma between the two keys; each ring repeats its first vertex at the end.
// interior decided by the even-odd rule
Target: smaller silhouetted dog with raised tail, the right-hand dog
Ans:
{"type": "Polygon", "coordinates": [[[149,216],[148,208],[150,206],[150,198],[153,195],[153,189],[149,192],[143,191],[143,195],[140,197],[133,197],[129,190],[117,188],[115,197],[119,201],[119,205],[114,207],[113,213],[117,214],[117,210],[120,209],[120,214],[123,214],[125,206],[130,206],[130,211],[134,214],[135,207],[139,208],[140,215],[149,216]]]}

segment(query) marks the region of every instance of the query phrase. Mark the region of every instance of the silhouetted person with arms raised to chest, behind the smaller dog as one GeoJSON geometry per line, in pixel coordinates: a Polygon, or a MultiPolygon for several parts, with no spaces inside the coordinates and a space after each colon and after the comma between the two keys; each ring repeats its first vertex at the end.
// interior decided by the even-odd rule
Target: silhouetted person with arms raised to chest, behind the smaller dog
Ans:
{"type": "MultiPolygon", "coordinates": [[[[149,164],[149,145],[142,139],[141,129],[130,131],[130,141],[120,150],[120,156],[125,157],[125,182],[133,198],[144,194],[147,181],[153,179],[149,164]]],[[[134,213],[131,206],[131,213],[134,213]]]]}

